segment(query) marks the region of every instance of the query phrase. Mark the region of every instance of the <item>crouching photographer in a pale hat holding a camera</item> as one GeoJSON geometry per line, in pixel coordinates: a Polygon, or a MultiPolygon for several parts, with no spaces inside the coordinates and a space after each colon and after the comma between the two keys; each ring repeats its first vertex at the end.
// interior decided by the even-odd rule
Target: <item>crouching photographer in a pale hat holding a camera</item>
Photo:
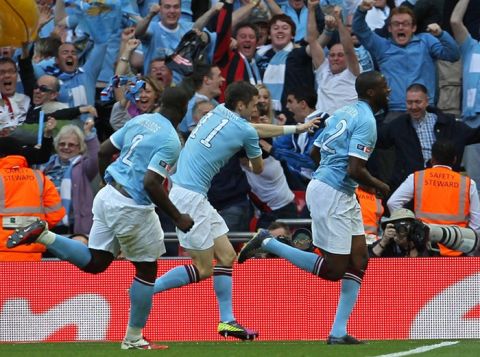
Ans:
{"type": "Polygon", "coordinates": [[[394,211],[382,222],[382,238],[368,246],[371,258],[376,257],[426,257],[426,227],[409,209],[394,211]]]}

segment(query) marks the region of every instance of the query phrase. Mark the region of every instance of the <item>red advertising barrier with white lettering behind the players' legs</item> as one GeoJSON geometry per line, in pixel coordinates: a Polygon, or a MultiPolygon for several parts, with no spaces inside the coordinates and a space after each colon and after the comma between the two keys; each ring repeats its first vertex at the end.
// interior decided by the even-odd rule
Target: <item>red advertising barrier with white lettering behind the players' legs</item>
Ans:
{"type": "MultiPolygon", "coordinates": [[[[159,274],[187,259],[161,259],[159,274]]],[[[122,339],[134,270],[115,261],[91,276],[66,262],[0,263],[0,341],[122,339]]],[[[480,338],[480,258],[372,259],[349,323],[361,339],[480,338]]],[[[283,259],[234,270],[234,311],[261,340],[323,340],[339,283],[283,259]]],[[[158,294],[145,335],[158,341],[216,341],[211,279],[158,294]]]]}

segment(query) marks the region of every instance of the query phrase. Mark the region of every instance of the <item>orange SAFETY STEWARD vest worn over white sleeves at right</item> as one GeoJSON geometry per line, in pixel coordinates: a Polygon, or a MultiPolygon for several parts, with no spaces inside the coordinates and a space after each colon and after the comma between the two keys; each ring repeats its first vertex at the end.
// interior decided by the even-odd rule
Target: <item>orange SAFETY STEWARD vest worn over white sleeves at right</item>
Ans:
{"type": "MultiPolygon", "coordinates": [[[[415,216],[424,223],[467,227],[470,216],[470,178],[448,167],[436,166],[414,174],[415,216]]],[[[438,245],[440,255],[462,252],[438,245]]]]}

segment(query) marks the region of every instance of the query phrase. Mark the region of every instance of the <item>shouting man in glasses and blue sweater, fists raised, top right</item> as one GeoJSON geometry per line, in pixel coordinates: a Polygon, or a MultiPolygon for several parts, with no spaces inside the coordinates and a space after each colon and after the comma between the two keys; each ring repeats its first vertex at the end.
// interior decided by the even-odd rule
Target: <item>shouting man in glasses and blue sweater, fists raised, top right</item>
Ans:
{"type": "Polygon", "coordinates": [[[412,83],[421,83],[430,94],[430,104],[436,96],[435,61],[438,59],[455,62],[460,53],[455,40],[438,24],[429,24],[429,33],[415,35],[417,29],[413,11],[397,7],[390,12],[388,32],[383,38],[372,32],[365,16],[375,0],[363,0],[353,18],[353,33],[374,57],[392,89],[386,121],[406,111],[405,93],[412,83]]]}

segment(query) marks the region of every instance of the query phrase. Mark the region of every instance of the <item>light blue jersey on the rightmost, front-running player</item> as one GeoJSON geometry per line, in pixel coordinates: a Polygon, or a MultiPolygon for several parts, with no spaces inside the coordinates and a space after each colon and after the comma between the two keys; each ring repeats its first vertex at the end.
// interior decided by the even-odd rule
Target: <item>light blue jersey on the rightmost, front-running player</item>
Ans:
{"type": "Polygon", "coordinates": [[[320,148],[320,166],[313,178],[353,194],[358,184],[348,176],[348,158],[367,161],[377,141],[377,126],[370,106],[363,101],[338,109],[325,121],[325,129],[315,140],[320,148]]]}

